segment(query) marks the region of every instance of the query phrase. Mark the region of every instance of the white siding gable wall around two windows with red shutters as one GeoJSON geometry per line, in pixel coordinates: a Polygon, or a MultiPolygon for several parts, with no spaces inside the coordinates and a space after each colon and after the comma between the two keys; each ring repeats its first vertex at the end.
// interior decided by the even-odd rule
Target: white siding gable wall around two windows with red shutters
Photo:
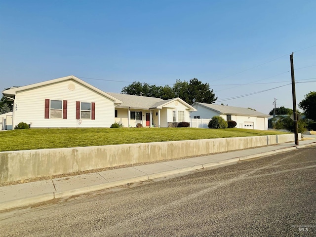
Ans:
{"type": "Polygon", "coordinates": [[[23,121],[31,127],[110,127],[114,122],[114,102],[74,80],[18,92],[14,102],[14,126],[23,121]],[[44,118],[45,99],[67,100],[67,119],[44,118]],[[76,101],[95,102],[95,119],[81,119],[79,124],[76,101]]]}

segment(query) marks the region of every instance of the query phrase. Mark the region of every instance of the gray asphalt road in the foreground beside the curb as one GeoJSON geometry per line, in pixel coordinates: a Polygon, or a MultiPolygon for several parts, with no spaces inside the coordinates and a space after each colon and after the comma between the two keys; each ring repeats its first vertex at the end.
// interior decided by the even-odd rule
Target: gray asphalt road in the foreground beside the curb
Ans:
{"type": "Polygon", "coordinates": [[[2,211],[0,236],[316,236],[316,146],[2,211]]]}

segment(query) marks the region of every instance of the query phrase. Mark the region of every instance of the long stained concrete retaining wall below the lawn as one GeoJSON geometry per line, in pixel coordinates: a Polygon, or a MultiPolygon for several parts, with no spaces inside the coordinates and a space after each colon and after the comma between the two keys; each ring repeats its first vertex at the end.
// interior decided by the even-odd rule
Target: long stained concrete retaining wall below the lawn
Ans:
{"type": "Polygon", "coordinates": [[[0,152],[0,182],[290,141],[294,134],[0,152]]]}

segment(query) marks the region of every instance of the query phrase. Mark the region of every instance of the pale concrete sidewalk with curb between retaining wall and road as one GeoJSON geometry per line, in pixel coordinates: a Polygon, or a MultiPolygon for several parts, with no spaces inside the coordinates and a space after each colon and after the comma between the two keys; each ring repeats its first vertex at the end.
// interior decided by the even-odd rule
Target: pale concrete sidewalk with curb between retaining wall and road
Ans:
{"type": "Polygon", "coordinates": [[[70,197],[201,168],[234,164],[240,160],[273,155],[301,147],[315,146],[316,136],[310,136],[309,138],[312,139],[299,141],[298,146],[294,142],[283,143],[248,150],[4,186],[0,187],[0,210],[27,206],[58,197],[70,197]]]}

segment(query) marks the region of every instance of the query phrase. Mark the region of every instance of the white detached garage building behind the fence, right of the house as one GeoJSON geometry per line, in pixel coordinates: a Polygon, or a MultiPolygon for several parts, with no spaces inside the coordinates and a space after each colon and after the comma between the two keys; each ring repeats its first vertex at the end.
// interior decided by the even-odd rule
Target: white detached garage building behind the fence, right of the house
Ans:
{"type": "Polygon", "coordinates": [[[194,103],[192,107],[196,112],[192,112],[190,118],[211,119],[214,116],[220,116],[226,121],[234,120],[237,122],[237,128],[268,130],[269,115],[251,110],[248,108],[215,105],[206,103],[194,103]]]}

